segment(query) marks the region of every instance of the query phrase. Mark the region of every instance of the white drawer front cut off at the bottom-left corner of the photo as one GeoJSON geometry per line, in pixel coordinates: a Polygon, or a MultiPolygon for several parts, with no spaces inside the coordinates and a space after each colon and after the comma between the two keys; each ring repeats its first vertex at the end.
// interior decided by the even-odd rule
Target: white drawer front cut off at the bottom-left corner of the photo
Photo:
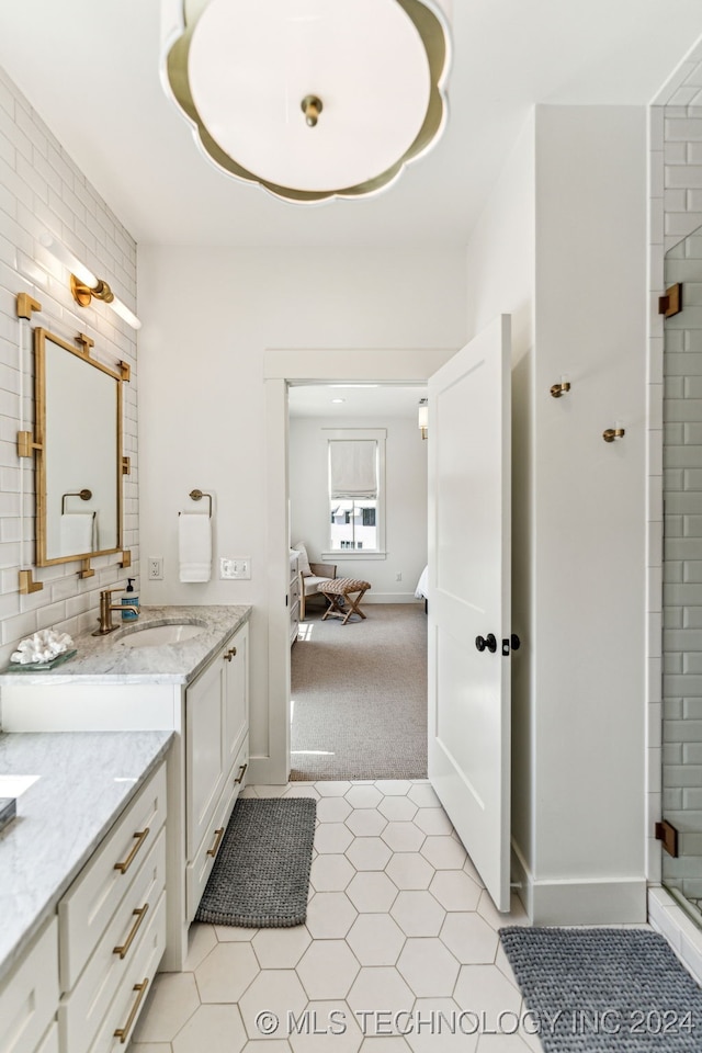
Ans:
{"type": "Polygon", "coordinates": [[[57,1001],[58,922],[52,918],[0,986],[0,1053],[36,1053],[57,1001]]]}

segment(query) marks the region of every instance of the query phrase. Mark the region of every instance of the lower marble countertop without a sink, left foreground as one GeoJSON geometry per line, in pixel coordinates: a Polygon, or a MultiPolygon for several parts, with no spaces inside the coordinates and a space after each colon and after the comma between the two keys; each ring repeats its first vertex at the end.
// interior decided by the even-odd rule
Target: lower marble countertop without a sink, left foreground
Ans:
{"type": "Polygon", "coordinates": [[[16,797],[16,818],[0,833],[0,978],[158,766],[172,735],[0,734],[0,788],[8,777],[30,783],[16,797]]]}

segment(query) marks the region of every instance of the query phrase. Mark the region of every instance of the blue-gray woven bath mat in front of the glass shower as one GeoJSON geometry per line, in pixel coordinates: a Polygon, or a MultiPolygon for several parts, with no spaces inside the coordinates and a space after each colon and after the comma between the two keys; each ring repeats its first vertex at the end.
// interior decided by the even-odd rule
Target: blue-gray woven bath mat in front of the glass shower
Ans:
{"type": "Polygon", "coordinates": [[[544,1053],[700,1053],[702,992],[645,929],[500,929],[544,1053]]]}

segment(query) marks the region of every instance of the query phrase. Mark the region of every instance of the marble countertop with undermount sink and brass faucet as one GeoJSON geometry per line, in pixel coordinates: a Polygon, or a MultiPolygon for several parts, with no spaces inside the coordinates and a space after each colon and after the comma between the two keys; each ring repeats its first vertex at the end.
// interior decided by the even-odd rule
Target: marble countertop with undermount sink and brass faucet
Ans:
{"type": "MultiPolygon", "coordinates": [[[[76,678],[95,683],[190,683],[250,613],[250,607],[143,607],[137,622],[126,622],[107,636],[76,636],[78,654],[64,665],[44,671],[3,672],[0,684],[69,683],[76,678]],[[203,625],[204,632],[192,639],[154,647],[124,643],[139,629],[182,623],[203,625]]],[[[115,612],[115,619],[118,616],[115,612]]]]}

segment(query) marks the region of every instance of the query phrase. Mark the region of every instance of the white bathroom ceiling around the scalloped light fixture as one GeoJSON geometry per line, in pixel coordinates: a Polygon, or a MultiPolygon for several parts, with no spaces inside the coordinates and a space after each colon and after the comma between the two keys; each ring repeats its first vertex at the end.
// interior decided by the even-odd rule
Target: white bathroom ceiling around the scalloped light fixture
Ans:
{"type": "Polygon", "coordinates": [[[700,0],[453,0],[441,143],[377,199],[310,206],[240,184],[199,152],[161,90],[158,0],[0,8],[0,63],[151,244],[463,246],[533,103],[645,103],[702,34],[700,0]]]}

